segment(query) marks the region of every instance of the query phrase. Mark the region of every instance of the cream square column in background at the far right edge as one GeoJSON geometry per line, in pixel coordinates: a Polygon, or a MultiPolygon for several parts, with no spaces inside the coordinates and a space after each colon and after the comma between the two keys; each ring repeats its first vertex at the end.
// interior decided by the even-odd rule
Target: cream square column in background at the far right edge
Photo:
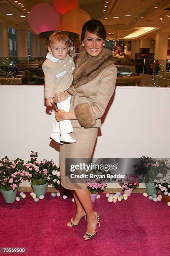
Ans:
{"type": "Polygon", "coordinates": [[[160,70],[165,71],[166,61],[167,61],[167,51],[168,51],[168,32],[159,31],[156,34],[156,43],[155,43],[155,60],[159,60],[160,70]]]}

